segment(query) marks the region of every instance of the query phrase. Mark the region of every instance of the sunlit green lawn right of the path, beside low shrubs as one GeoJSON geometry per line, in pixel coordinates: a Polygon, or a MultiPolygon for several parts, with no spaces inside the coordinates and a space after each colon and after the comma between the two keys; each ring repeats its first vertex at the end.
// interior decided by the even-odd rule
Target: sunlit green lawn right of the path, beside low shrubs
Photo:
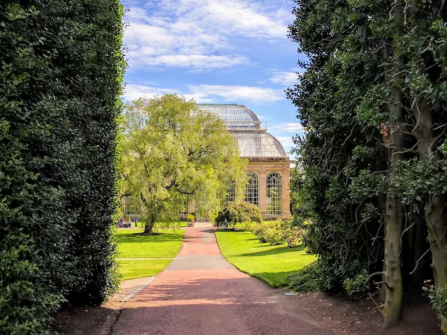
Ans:
{"type": "Polygon", "coordinates": [[[269,246],[247,231],[217,231],[216,237],[228,262],[274,287],[285,285],[286,276],[316,260],[302,246],[269,246]]]}

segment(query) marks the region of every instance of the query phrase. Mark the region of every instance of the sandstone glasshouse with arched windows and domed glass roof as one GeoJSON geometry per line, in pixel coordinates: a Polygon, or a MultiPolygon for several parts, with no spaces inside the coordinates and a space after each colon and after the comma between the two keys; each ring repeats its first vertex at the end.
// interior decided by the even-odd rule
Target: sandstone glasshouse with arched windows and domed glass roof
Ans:
{"type": "MultiPolygon", "coordinates": [[[[264,218],[291,219],[290,163],[279,140],[261,126],[261,121],[244,105],[197,105],[200,110],[217,114],[239,147],[240,155],[248,158],[245,201],[261,209],[264,218]]],[[[234,201],[235,190],[228,185],[226,201],[234,201]]]]}

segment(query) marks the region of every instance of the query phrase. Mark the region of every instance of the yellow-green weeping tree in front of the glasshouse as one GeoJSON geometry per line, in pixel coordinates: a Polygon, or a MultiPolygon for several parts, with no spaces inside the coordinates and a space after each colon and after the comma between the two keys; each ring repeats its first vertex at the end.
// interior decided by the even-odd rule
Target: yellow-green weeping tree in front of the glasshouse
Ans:
{"type": "Polygon", "coordinates": [[[156,221],[177,220],[186,197],[215,218],[230,182],[243,194],[247,162],[217,116],[173,94],[124,107],[122,191],[142,201],[146,233],[156,221]]]}

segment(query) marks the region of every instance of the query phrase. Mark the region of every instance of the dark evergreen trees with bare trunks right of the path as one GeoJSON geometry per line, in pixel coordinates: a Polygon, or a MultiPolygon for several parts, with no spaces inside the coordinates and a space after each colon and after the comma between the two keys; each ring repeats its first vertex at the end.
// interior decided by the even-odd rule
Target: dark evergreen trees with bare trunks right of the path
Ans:
{"type": "Polygon", "coordinates": [[[406,288],[434,278],[446,295],[445,1],[296,2],[291,38],[309,61],[288,97],[307,131],[295,185],[312,217],[306,243],[325,290],[382,276],[390,326],[406,288]]]}

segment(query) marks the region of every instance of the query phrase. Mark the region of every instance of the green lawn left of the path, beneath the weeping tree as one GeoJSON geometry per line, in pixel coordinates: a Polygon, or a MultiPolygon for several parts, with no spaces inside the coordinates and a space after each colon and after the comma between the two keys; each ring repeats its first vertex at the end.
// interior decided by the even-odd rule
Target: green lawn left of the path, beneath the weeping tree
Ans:
{"type": "Polygon", "coordinates": [[[123,279],[154,276],[163,270],[182,246],[184,230],[157,229],[161,234],[142,235],[144,229],[118,230],[118,258],[123,279]],[[168,258],[159,260],[125,260],[123,258],[168,258]]]}

